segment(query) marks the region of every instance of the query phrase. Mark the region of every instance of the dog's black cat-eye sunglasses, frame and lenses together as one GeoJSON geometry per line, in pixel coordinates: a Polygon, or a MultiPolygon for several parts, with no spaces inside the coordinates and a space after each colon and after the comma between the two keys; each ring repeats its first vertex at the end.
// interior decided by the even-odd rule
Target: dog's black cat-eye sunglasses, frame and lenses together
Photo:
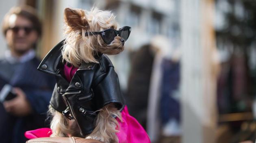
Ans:
{"type": "Polygon", "coordinates": [[[131,31],[132,31],[131,27],[124,26],[119,30],[110,28],[110,29],[105,29],[101,32],[86,32],[85,36],[100,35],[106,44],[110,44],[114,40],[115,36],[120,36],[121,38],[124,38],[124,40],[126,41],[129,38],[131,31]]]}

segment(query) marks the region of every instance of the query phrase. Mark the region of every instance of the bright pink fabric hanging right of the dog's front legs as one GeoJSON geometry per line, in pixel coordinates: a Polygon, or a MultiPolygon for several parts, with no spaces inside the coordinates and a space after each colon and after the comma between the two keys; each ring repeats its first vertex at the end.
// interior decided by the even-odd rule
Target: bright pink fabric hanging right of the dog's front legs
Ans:
{"type": "Polygon", "coordinates": [[[116,133],[119,143],[150,143],[147,132],[139,122],[129,115],[127,106],[121,111],[123,122],[119,123],[119,132],[116,133]]]}

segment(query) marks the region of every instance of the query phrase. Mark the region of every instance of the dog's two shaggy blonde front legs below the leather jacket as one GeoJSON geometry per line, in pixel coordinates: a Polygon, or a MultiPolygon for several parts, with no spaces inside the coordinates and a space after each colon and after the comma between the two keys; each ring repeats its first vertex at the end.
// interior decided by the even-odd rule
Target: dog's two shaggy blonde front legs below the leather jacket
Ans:
{"type": "MultiPolygon", "coordinates": [[[[63,116],[60,112],[49,107],[49,114],[52,116],[50,127],[52,129],[51,137],[80,137],[79,128],[76,122],[69,124],[69,119],[63,116]]],[[[96,139],[104,143],[117,143],[119,124],[117,120],[121,120],[121,113],[111,103],[103,107],[95,121],[95,128],[86,138],[96,139]]]]}

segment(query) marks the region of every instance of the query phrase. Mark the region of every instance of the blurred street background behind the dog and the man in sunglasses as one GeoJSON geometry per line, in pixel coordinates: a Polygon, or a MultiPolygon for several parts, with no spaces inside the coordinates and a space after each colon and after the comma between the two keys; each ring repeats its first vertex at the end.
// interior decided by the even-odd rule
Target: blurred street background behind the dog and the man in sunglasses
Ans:
{"type": "MultiPolygon", "coordinates": [[[[66,7],[110,10],[132,27],[125,50],[109,57],[153,143],[255,141],[255,0],[8,0],[0,19],[24,4],[43,24],[41,59],[65,38],[66,7]]],[[[3,35],[0,45],[4,56],[3,35]]]]}

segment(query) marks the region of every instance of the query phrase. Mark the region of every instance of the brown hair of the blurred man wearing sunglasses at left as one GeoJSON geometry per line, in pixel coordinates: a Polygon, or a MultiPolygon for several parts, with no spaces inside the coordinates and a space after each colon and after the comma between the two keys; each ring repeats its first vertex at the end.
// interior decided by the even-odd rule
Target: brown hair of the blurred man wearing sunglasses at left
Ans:
{"type": "Polygon", "coordinates": [[[41,22],[37,16],[36,10],[31,6],[15,6],[12,7],[9,12],[4,16],[3,22],[2,22],[2,32],[4,36],[6,36],[7,30],[10,28],[9,19],[11,15],[17,15],[24,17],[31,21],[33,28],[35,28],[38,36],[40,37],[42,34],[42,25],[41,22]]]}

